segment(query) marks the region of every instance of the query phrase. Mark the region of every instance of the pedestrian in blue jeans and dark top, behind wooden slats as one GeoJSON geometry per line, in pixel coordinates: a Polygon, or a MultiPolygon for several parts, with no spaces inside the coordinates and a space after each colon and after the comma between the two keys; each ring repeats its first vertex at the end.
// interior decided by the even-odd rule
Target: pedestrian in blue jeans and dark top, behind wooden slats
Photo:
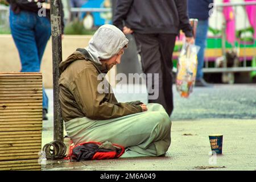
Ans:
{"type": "MultiPolygon", "coordinates": [[[[20,72],[40,72],[44,49],[51,37],[50,4],[47,1],[34,0],[7,1],[10,3],[11,35],[22,64],[20,72]],[[42,9],[46,10],[46,14],[39,16],[42,9]]],[[[63,28],[62,16],[62,31],[63,28]]],[[[48,97],[43,88],[43,120],[48,119],[47,113],[48,97]]]]}

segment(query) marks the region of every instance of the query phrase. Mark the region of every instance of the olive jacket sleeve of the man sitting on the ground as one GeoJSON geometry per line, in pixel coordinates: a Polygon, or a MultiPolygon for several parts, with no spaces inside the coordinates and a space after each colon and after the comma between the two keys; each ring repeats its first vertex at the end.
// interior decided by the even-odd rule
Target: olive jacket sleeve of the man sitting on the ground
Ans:
{"type": "Polygon", "coordinates": [[[74,97],[84,115],[90,119],[111,119],[142,112],[142,107],[127,103],[110,103],[97,88],[101,80],[94,69],[84,69],[73,82],[74,97]]]}

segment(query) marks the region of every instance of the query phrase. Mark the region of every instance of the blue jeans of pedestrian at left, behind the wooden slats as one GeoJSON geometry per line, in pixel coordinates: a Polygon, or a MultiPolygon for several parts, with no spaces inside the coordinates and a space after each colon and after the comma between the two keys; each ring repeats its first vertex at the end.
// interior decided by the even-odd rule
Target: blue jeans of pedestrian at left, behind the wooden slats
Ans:
{"type": "MultiPolygon", "coordinates": [[[[40,72],[44,49],[51,37],[51,22],[36,13],[20,11],[14,14],[10,9],[10,27],[22,64],[20,72],[40,72]]],[[[43,109],[48,110],[48,97],[44,88],[43,109]]]]}

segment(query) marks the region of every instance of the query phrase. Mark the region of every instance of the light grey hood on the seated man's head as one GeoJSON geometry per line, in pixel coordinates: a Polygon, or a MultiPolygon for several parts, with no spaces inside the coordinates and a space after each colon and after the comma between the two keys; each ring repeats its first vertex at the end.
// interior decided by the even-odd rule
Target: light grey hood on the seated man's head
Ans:
{"type": "Polygon", "coordinates": [[[89,41],[89,46],[85,47],[93,61],[101,64],[100,60],[106,60],[116,55],[128,44],[125,34],[119,28],[105,24],[98,28],[89,41]]]}

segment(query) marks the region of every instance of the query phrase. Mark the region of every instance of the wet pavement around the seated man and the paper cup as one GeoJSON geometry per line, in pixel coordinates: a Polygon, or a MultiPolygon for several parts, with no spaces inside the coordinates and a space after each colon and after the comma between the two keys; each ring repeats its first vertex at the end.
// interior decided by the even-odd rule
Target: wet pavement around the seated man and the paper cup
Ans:
{"type": "MultiPolygon", "coordinates": [[[[146,89],[146,88],[145,88],[146,89]]],[[[188,99],[174,86],[172,143],[167,155],[159,158],[133,158],[68,162],[48,160],[42,170],[256,170],[256,85],[214,85],[195,88],[188,99]],[[210,155],[210,134],[223,134],[220,156],[210,155]]],[[[121,94],[120,102],[141,100],[147,95],[121,94]]],[[[52,89],[47,89],[52,105],[52,89]]],[[[43,122],[42,146],[53,140],[53,108],[43,122]]]]}

